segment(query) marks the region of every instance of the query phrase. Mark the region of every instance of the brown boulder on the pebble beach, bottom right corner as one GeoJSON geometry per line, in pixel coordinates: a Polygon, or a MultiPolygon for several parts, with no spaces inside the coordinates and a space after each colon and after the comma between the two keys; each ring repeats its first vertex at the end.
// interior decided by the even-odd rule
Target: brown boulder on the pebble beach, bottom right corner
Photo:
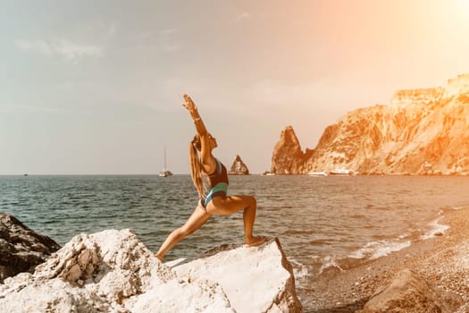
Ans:
{"type": "Polygon", "coordinates": [[[387,287],[382,288],[366,302],[360,313],[452,313],[462,300],[444,292],[408,269],[401,270],[387,287]]]}

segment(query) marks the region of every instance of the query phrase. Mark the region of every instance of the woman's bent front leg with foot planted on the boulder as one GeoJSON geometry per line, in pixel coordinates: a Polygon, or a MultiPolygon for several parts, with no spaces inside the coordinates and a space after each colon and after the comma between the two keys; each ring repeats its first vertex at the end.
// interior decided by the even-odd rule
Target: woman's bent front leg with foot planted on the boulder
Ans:
{"type": "Polygon", "coordinates": [[[264,237],[254,237],[253,226],[257,201],[252,196],[215,197],[207,205],[207,212],[214,215],[225,216],[244,209],[243,223],[245,241],[248,246],[256,246],[264,241],[264,237]]]}

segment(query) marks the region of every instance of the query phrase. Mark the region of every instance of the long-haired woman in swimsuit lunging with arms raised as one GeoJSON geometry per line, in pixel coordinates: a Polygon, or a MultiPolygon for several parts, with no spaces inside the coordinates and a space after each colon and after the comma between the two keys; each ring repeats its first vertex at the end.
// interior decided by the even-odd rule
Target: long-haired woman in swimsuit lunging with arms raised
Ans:
{"type": "Polygon", "coordinates": [[[197,188],[200,200],[192,216],[186,224],[173,231],[163,242],[160,250],[156,252],[156,258],[163,260],[164,255],[191,233],[199,229],[212,215],[230,215],[244,209],[243,222],[245,241],[247,246],[256,246],[266,239],[253,236],[253,225],[255,221],[256,201],[251,196],[230,196],[228,190],[228,174],[226,167],[222,165],[213,155],[212,150],[217,147],[217,142],[205,128],[205,124],[197,112],[197,106],[188,95],[184,95],[186,103],[183,104],[196,126],[197,135],[189,146],[190,173],[192,181],[197,188]],[[200,158],[197,151],[200,152],[200,158]],[[210,182],[210,190],[205,194],[202,174],[210,182]]]}

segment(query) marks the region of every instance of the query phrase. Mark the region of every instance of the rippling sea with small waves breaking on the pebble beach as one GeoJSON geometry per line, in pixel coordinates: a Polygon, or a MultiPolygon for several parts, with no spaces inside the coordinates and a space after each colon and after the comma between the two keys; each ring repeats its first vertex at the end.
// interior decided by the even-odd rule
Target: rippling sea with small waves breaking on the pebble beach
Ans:
{"type": "MultiPolygon", "coordinates": [[[[308,285],[326,269],[444,233],[443,212],[469,207],[467,190],[467,176],[247,175],[230,176],[229,194],[255,196],[255,235],[280,239],[308,308],[308,285]]],[[[0,211],[60,245],[79,233],[131,228],[155,252],[196,205],[189,175],[0,176],[0,211]]],[[[213,216],[165,260],[243,239],[241,212],[213,216]]]]}

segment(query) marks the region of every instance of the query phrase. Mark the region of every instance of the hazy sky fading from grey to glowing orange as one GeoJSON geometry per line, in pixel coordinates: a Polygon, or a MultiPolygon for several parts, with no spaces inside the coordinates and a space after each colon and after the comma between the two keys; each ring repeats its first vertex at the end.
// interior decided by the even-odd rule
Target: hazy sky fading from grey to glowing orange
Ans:
{"type": "Polygon", "coordinates": [[[189,173],[187,93],[251,173],[469,72],[469,0],[0,0],[0,174],[189,173]]]}

